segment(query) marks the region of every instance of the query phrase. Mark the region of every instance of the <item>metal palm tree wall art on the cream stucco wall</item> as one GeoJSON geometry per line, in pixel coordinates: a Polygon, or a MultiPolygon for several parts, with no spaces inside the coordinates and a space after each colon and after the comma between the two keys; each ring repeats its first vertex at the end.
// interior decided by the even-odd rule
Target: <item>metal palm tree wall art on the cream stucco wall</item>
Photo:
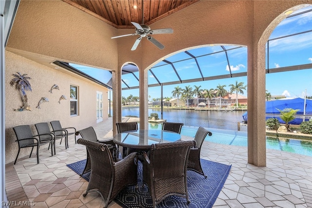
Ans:
{"type": "Polygon", "coordinates": [[[14,78],[10,81],[10,85],[13,87],[15,85],[15,89],[20,91],[20,98],[23,102],[23,105],[20,107],[20,109],[16,109],[15,111],[30,111],[30,105],[28,105],[28,98],[26,95],[26,91],[32,91],[31,85],[28,81],[28,79],[31,79],[30,77],[26,76],[26,74],[21,75],[19,72],[17,74],[13,75],[14,78]]]}

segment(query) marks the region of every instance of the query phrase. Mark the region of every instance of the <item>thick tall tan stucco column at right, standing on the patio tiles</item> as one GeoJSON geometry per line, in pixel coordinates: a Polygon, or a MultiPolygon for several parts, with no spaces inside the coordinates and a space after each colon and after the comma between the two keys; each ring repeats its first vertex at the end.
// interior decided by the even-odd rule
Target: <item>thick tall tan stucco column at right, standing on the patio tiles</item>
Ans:
{"type": "Polygon", "coordinates": [[[265,44],[248,48],[248,163],[266,166],[265,44]]]}

